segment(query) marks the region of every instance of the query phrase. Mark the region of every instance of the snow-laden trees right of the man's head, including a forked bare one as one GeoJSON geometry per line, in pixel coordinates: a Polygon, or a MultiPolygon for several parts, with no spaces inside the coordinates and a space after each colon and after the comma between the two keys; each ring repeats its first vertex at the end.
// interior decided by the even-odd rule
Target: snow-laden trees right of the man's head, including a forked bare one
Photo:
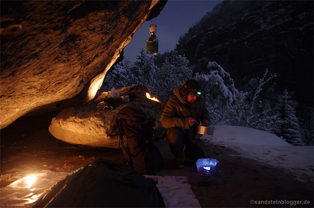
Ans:
{"type": "Polygon", "coordinates": [[[205,102],[212,117],[211,123],[246,126],[268,132],[276,131],[275,124],[285,121],[273,115],[271,108],[265,106],[257,97],[262,86],[277,76],[271,74],[266,77],[268,69],[265,70],[262,79],[256,80],[256,88],[251,102],[247,101],[248,92],[239,92],[230,74],[216,62],[208,62],[209,72],[207,74],[196,74],[196,79],[205,91],[205,102]]]}

